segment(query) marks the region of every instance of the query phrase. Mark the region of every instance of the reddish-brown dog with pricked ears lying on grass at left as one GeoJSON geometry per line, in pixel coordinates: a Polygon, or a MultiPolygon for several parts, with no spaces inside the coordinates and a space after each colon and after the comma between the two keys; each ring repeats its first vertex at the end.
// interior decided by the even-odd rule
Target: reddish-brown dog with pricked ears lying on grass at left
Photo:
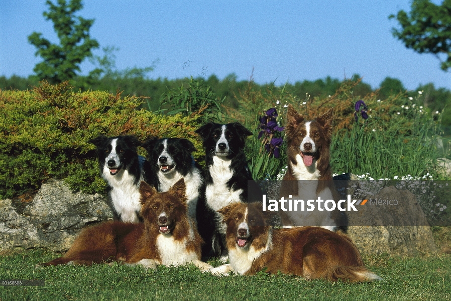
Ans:
{"type": "Polygon", "coordinates": [[[141,182],[144,223],[109,221],[86,228],[63,257],[44,265],[90,265],[118,260],[146,268],[193,263],[208,270],[211,265],[200,260],[202,238],[187,215],[185,191],[183,178],[162,193],[141,182]]]}

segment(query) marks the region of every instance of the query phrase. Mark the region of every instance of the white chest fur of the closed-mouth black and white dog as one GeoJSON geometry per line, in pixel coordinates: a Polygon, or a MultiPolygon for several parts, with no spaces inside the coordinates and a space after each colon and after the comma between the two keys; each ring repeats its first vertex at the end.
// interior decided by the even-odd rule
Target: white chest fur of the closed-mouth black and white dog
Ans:
{"type": "Polygon", "coordinates": [[[223,160],[220,157],[213,157],[213,164],[209,168],[212,184],[208,184],[205,189],[207,204],[217,211],[233,202],[240,202],[242,189],[229,189],[227,182],[232,178],[233,171],[230,169],[232,160],[223,160]]]}

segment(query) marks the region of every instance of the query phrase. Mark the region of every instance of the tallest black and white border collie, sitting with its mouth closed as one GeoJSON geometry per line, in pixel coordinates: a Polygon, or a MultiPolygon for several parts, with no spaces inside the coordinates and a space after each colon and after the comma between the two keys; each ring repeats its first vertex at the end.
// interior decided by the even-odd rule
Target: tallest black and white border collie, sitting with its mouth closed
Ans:
{"type": "Polygon", "coordinates": [[[252,180],[244,153],[246,138],[252,132],[239,122],[209,122],[195,131],[205,150],[205,205],[211,224],[202,226],[205,217],[198,215],[199,232],[206,244],[212,237],[214,255],[227,256],[225,225],[217,212],[235,202],[248,202],[248,180],[252,180]],[[213,229],[214,227],[214,229],[213,229]],[[208,232],[209,230],[213,230],[208,232]]]}

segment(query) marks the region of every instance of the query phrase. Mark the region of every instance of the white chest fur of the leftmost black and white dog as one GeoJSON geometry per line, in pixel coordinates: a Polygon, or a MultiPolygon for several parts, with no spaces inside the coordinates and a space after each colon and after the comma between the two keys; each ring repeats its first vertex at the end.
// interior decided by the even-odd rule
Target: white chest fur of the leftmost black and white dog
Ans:
{"type": "Polygon", "coordinates": [[[139,218],[136,212],[140,211],[140,193],[139,179],[138,184],[135,184],[135,178],[129,174],[127,170],[121,170],[115,176],[111,176],[108,168],[103,167],[102,178],[112,187],[109,192],[112,206],[121,215],[121,220],[124,222],[138,223],[139,218]]]}

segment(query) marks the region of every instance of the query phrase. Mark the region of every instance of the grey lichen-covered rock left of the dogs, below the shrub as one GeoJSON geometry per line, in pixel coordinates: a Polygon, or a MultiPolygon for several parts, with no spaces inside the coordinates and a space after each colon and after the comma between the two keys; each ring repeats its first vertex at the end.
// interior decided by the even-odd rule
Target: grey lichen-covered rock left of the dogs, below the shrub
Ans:
{"type": "Polygon", "coordinates": [[[111,218],[102,196],[74,193],[64,181],[49,180],[30,203],[0,201],[0,252],[68,250],[81,228],[111,218]]]}

